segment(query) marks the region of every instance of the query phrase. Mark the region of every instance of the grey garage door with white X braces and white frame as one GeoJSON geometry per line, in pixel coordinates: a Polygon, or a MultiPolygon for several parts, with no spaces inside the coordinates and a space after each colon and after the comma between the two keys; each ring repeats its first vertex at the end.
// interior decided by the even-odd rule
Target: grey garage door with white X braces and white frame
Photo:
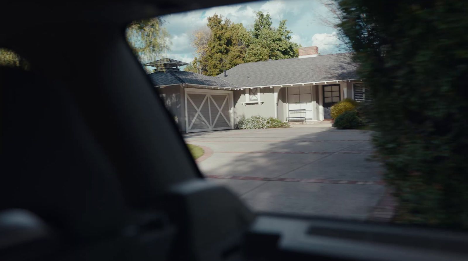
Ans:
{"type": "Polygon", "coordinates": [[[233,91],[185,88],[187,132],[234,129],[233,91]]]}

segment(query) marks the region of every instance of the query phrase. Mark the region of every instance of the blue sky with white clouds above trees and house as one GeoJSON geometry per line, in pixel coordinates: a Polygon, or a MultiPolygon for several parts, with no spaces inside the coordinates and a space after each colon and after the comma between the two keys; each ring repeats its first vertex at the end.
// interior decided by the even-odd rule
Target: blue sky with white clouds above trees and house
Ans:
{"type": "Polygon", "coordinates": [[[171,51],[163,56],[190,63],[195,57],[190,38],[195,30],[206,26],[207,17],[222,15],[250,28],[255,21],[256,11],[270,13],[274,27],[278,26],[280,20],[286,19],[286,26],[292,31],[292,41],[303,47],[316,45],[322,55],[341,52],[336,29],[322,22],[321,17],[331,17],[331,14],[319,0],[269,0],[162,16],[172,42],[171,51]]]}

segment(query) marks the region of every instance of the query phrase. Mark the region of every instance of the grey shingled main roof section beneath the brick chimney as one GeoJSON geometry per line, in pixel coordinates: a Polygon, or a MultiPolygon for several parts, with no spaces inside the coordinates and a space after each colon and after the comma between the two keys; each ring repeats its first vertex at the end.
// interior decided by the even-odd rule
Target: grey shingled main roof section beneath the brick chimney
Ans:
{"type": "Polygon", "coordinates": [[[218,76],[238,87],[354,80],[357,64],[349,53],[290,58],[236,65],[218,76]]]}

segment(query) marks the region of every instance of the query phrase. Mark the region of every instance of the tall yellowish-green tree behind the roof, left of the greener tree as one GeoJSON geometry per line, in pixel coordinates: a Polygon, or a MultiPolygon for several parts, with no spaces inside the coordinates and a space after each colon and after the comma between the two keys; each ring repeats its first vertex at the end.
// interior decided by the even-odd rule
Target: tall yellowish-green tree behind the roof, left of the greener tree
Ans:
{"type": "Polygon", "coordinates": [[[243,26],[234,25],[222,15],[208,17],[208,28],[211,37],[207,44],[204,57],[200,58],[200,66],[205,68],[206,75],[216,76],[223,70],[230,69],[243,63],[246,46],[241,41],[240,35],[245,30],[243,26]]]}

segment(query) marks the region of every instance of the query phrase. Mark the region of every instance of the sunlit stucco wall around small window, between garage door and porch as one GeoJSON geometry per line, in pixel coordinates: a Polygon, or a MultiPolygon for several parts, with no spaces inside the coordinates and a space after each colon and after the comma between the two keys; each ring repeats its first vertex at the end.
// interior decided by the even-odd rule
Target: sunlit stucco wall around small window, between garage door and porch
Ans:
{"type": "Polygon", "coordinates": [[[254,115],[260,115],[265,117],[275,116],[275,101],[273,98],[273,88],[264,87],[259,88],[260,101],[262,104],[246,104],[245,102],[245,90],[234,91],[234,121],[237,123],[242,116],[246,118],[254,115]]]}

